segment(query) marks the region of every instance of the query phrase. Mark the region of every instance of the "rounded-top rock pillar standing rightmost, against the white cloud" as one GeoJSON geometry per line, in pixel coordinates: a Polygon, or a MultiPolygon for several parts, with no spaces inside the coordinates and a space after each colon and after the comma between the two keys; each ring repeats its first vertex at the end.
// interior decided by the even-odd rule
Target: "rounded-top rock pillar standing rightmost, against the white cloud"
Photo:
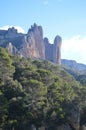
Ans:
{"type": "Polygon", "coordinates": [[[62,38],[60,36],[56,36],[53,44],[53,62],[57,64],[61,64],[61,45],[62,38]]]}

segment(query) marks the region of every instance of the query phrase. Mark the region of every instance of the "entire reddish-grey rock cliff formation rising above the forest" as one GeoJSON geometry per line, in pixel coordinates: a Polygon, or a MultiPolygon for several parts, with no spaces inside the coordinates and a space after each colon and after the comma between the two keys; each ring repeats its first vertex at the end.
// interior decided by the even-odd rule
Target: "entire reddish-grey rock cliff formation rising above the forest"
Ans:
{"type": "Polygon", "coordinates": [[[46,59],[61,64],[61,42],[60,36],[55,37],[54,44],[50,44],[48,38],[43,39],[42,27],[36,24],[27,34],[18,33],[14,27],[0,30],[0,46],[7,48],[11,54],[26,58],[46,59]]]}

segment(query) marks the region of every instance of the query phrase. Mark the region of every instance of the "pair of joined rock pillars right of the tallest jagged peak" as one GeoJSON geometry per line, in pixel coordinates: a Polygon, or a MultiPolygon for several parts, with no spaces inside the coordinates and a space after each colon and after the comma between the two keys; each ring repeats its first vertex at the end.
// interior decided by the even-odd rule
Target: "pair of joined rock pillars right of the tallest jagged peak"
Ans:
{"type": "Polygon", "coordinates": [[[61,64],[61,44],[62,39],[56,36],[54,44],[50,44],[48,38],[44,38],[45,44],[45,58],[57,64],[61,64]]]}

